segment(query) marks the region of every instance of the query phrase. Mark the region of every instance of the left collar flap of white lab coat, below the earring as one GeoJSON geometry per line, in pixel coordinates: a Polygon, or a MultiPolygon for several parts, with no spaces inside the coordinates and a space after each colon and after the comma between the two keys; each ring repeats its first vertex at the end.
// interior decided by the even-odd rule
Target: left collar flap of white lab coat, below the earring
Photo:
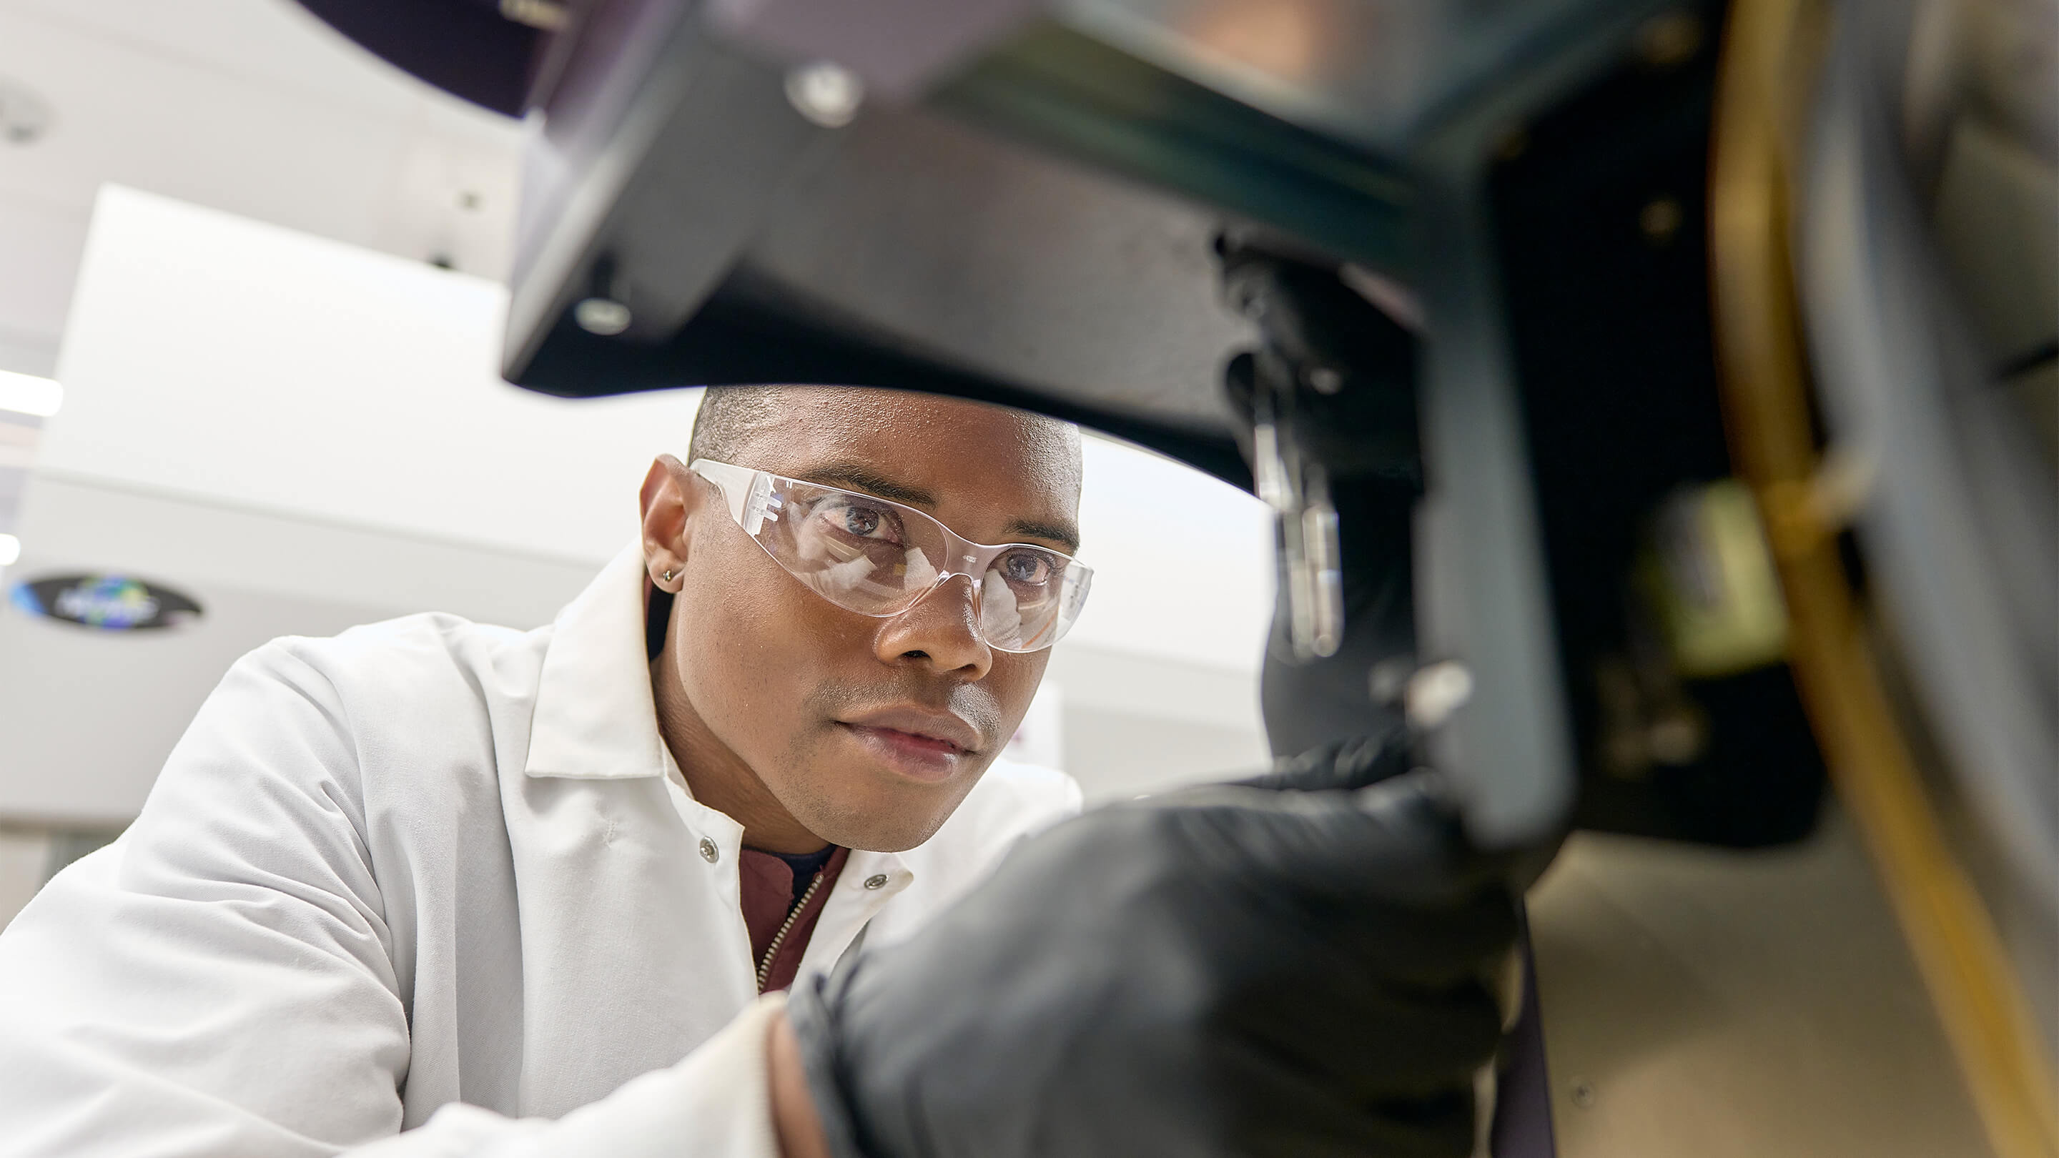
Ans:
{"type": "Polygon", "coordinates": [[[531,777],[665,775],[644,657],[644,560],[634,542],[552,624],[529,723],[531,777]]]}

